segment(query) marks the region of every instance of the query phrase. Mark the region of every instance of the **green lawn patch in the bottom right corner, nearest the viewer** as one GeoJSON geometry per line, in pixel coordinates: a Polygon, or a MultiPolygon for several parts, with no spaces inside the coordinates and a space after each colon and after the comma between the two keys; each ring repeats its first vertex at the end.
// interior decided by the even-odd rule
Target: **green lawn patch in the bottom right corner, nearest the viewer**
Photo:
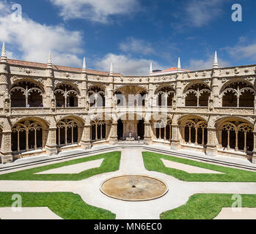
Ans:
{"type": "MultiPolygon", "coordinates": [[[[214,219],[223,207],[232,207],[235,200],[228,194],[197,194],[185,205],[160,214],[160,219],[214,219]]],[[[256,195],[241,195],[242,207],[256,208],[256,195]]]]}

